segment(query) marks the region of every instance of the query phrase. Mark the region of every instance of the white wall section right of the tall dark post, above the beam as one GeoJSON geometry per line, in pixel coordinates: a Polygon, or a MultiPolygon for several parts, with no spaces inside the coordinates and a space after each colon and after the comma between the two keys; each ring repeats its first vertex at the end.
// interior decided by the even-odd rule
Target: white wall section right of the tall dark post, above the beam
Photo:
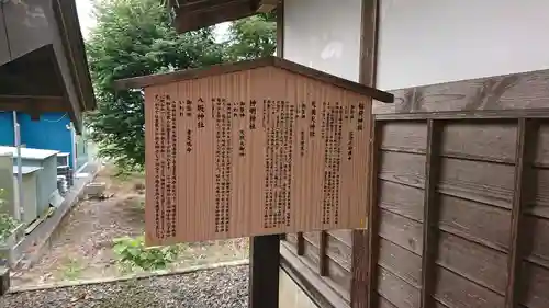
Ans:
{"type": "Polygon", "coordinates": [[[549,68],[547,0],[381,0],[377,87],[549,68]]]}

